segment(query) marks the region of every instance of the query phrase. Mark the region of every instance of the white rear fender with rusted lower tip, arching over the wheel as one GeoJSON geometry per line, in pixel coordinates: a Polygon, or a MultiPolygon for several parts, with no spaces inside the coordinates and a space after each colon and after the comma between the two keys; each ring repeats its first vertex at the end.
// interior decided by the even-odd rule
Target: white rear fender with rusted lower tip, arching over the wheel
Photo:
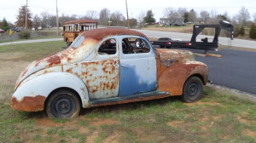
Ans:
{"type": "Polygon", "coordinates": [[[90,107],[88,90],[84,82],[67,72],[50,72],[33,77],[20,84],[11,99],[13,109],[24,112],[44,110],[44,102],[55,89],[69,88],[75,90],[82,101],[82,106],[90,107]]]}

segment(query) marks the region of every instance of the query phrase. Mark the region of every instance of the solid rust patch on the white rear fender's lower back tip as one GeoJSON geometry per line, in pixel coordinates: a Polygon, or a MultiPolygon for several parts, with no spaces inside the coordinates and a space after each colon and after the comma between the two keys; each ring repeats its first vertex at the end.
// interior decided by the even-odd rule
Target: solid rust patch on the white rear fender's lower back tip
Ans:
{"type": "Polygon", "coordinates": [[[44,101],[46,97],[37,95],[35,97],[23,97],[17,100],[15,97],[11,99],[11,106],[13,109],[22,112],[38,112],[44,110],[44,101]]]}

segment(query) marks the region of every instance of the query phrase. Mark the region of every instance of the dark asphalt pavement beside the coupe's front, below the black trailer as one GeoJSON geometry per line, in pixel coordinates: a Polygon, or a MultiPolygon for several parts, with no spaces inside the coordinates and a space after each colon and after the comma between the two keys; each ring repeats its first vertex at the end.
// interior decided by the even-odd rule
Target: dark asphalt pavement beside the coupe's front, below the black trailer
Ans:
{"type": "MultiPolygon", "coordinates": [[[[189,50],[203,53],[198,49],[189,50]]],[[[222,49],[211,53],[221,54],[223,57],[195,56],[195,60],[209,66],[209,79],[214,84],[256,95],[256,52],[222,49]]]]}

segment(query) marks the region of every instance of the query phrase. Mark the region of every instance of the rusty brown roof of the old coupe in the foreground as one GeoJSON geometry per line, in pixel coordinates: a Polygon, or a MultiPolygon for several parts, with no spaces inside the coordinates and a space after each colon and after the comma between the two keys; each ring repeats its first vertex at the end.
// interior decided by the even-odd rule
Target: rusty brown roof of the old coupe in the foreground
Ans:
{"type": "Polygon", "coordinates": [[[143,33],[139,31],[132,31],[125,28],[100,28],[83,32],[83,36],[85,38],[93,38],[97,41],[101,41],[104,37],[117,35],[136,35],[140,37],[146,37],[143,33]]]}

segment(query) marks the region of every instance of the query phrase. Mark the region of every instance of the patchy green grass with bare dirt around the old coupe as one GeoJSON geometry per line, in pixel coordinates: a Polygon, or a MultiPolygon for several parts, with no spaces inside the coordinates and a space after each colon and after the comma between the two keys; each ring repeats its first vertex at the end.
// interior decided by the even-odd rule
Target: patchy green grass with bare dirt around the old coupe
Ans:
{"type": "Polygon", "coordinates": [[[10,107],[15,80],[32,60],[66,43],[0,46],[0,142],[89,143],[253,143],[256,104],[212,87],[195,103],[178,97],[83,109],[80,117],[50,120],[45,112],[16,112],[10,107]]]}

